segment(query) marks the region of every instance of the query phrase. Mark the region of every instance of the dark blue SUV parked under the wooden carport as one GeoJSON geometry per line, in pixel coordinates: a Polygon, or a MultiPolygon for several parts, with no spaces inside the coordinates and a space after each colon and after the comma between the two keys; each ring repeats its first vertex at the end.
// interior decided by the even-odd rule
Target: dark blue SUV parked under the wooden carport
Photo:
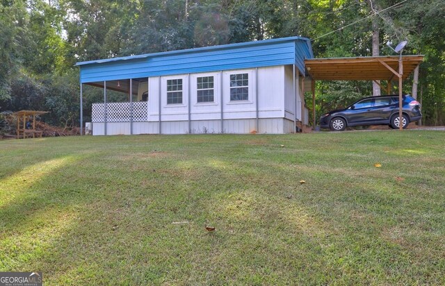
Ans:
{"type": "MultiPolygon", "coordinates": [[[[403,128],[422,118],[420,104],[409,94],[403,96],[403,128]]],[[[389,125],[398,128],[398,95],[371,96],[360,99],[345,109],[320,117],[321,128],[343,131],[350,126],[389,125]]]]}

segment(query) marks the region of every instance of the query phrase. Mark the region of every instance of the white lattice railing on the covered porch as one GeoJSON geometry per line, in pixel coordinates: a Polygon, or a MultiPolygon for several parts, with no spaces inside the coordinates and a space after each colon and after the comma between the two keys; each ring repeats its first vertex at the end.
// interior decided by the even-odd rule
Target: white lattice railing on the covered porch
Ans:
{"type": "MultiPolygon", "coordinates": [[[[133,121],[148,120],[148,101],[133,102],[133,121]]],[[[92,122],[104,122],[104,103],[92,103],[92,122]]],[[[107,122],[131,121],[131,108],[129,102],[106,103],[107,122]]]]}

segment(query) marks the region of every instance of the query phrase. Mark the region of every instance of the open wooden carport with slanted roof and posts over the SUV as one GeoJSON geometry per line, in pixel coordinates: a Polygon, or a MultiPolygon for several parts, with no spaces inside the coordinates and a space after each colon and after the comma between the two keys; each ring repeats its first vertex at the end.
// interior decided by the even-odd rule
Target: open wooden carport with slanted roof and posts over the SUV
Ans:
{"type": "MultiPolygon", "coordinates": [[[[391,83],[398,79],[399,122],[402,122],[402,83],[419,67],[423,56],[373,56],[359,58],[313,58],[305,60],[312,78],[312,106],[315,127],[315,81],[387,81],[386,92],[391,94],[391,83]]],[[[414,83],[417,83],[414,73],[414,83]]],[[[380,88],[385,89],[380,83],[380,88]]],[[[400,130],[403,124],[399,124],[400,130]]]]}

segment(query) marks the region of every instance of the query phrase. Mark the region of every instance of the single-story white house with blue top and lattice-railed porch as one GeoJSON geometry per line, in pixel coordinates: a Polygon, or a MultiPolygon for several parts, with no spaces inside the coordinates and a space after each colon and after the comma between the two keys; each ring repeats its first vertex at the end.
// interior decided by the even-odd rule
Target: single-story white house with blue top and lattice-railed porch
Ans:
{"type": "Polygon", "coordinates": [[[308,123],[309,58],[309,39],[285,37],[76,65],[81,102],[83,84],[104,88],[104,102],[92,105],[93,135],[280,134],[308,123]],[[128,101],[108,102],[107,90],[128,101]]]}

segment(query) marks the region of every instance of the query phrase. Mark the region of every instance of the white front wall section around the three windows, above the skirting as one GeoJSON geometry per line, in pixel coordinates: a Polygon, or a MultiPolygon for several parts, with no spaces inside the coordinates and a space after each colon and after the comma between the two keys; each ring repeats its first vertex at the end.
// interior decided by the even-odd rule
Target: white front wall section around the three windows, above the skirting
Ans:
{"type": "Polygon", "coordinates": [[[223,106],[224,119],[256,118],[257,87],[259,118],[284,116],[284,96],[282,95],[284,92],[284,66],[261,67],[259,69],[236,69],[190,75],[179,74],[175,76],[161,76],[161,79],[159,79],[159,76],[149,78],[148,121],[159,121],[159,81],[161,81],[161,121],[163,122],[188,121],[189,100],[192,121],[220,120],[221,106],[223,106]],[[247,101],[230,101],[231,74],[248,74],[249,96],[247,101]],[[197,78],[203,76],[213,76],[214,101],[211,103],[197,103],[197,78]],[[166,88],[167,80],[169,79],[182,80],[183,103],[167,104],[166,88]],[[190,99],[188,96],[189,93],[190,99]],[[222,97],[221,94],[223,94],[222,97]]]}

